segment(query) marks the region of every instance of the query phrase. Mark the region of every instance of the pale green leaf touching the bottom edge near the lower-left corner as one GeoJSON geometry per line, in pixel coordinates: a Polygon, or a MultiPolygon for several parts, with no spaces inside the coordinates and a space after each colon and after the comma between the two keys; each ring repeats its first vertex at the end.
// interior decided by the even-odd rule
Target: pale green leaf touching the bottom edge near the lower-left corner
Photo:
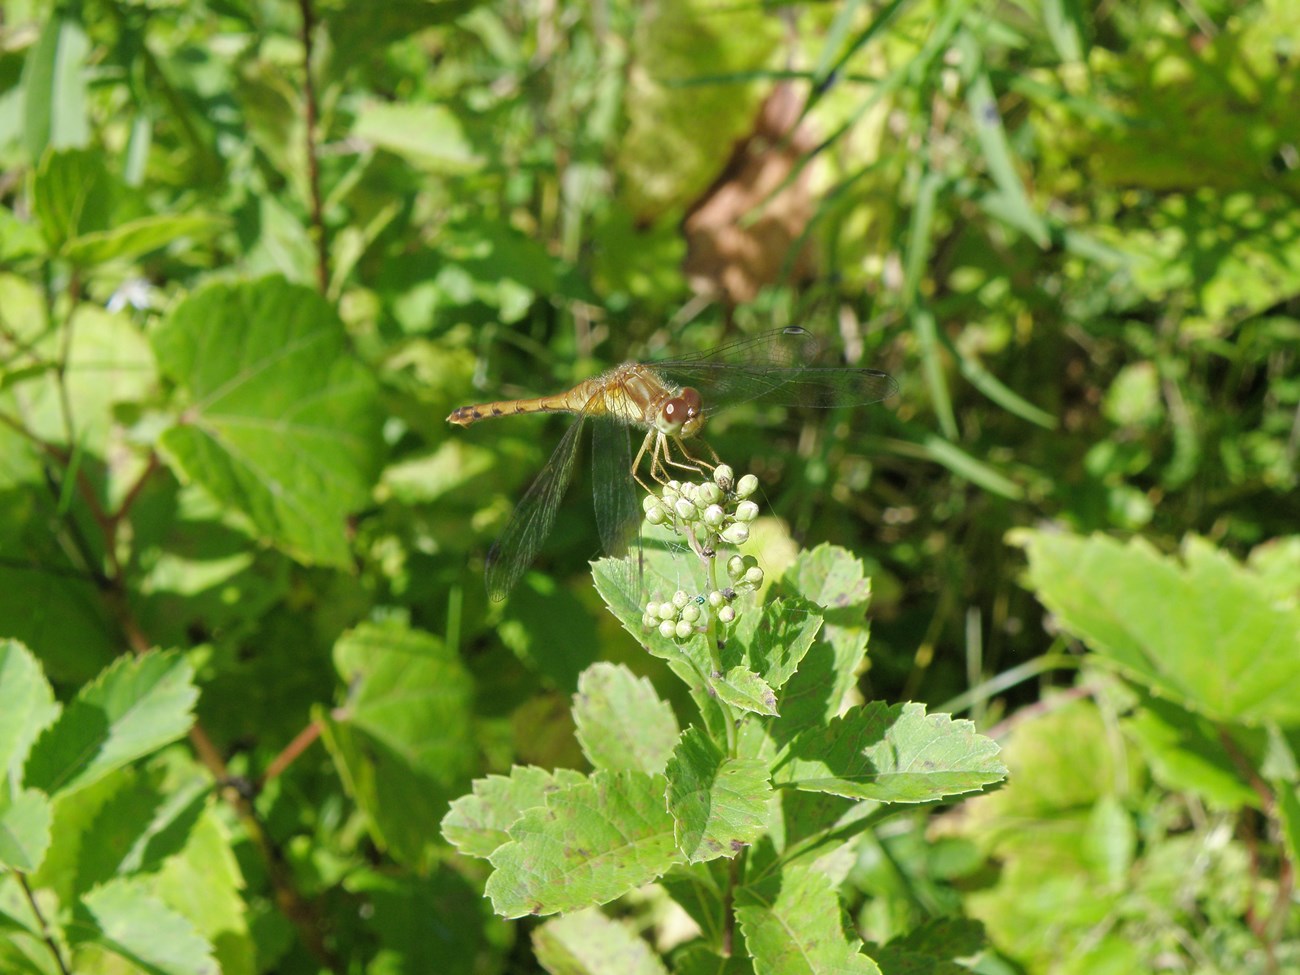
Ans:
{"type": "Polygon", "coordinates": [[[136,880],[112,880],[82,898],[77,945],[99,945],[157,975],[211,975],[209,945],[183,916],[136,880]]]}

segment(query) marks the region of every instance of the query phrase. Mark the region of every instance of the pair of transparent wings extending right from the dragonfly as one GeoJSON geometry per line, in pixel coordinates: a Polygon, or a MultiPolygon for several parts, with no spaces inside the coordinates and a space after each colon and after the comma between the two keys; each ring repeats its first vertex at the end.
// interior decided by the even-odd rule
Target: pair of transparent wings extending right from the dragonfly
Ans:
{"type": "Polygon", "coordinates": [[[866,406],[898,391],[876,369],[819,365],[822,343],[801,328],[775,329],[697,355],[651,363],[676,386],[699,390],[706,410],[762,399],[777,406],[866,406]]]}

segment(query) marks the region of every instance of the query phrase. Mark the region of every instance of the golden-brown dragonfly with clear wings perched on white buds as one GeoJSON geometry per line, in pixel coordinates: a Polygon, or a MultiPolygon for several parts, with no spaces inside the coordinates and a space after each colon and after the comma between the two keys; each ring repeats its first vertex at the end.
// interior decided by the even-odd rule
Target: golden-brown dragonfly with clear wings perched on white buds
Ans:
{"type": "Polygon", "coordinates": [[[792,325],[706,352],[623,363],[550,396],[503,399],[452,410],[447,422],[458,426],[524,413],[573,413],[577,417],[488,552],[485,575],[491,599],[506,598],[551,533],[560,499],[573,478],[582,429],[589,421],[593,425],[597,528],[602,547],[618,555],[625,546],[630,525],[642,514],[633,484],[650,490],[640,474],[646,456],[650,459],[649,476],[658,484],[670,480],[670,468],[697,473],[712,468],[692,454],[684,441],[697,438],[714,411],[749,402],[855,407],[898,391],[898,384],[876,369],[818,365],[820,352],[822,346],[810,332],[792,325]],[[645,432],[634,458],[629,438],[633,429],[645,432]]]}

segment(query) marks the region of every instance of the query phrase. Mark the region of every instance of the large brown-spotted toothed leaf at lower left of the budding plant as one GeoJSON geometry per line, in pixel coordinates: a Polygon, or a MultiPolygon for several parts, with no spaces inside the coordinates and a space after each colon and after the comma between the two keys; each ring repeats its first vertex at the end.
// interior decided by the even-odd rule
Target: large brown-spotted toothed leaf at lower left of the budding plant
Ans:
{"type": "Polygon", "coordinates": [[[486,894],[506,918],[612,901],[682,861],[662,775],[597,772],[510,827],[490,857],[486,894]]]}

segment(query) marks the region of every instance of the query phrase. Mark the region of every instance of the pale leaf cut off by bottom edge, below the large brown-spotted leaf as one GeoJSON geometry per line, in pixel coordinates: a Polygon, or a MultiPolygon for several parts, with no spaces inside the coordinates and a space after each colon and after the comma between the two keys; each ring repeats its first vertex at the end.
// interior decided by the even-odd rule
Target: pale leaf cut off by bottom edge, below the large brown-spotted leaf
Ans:
{"type": "Polygon", "coordinates": [[[630,924],[595,909],[547,920],[533,932],[533,952],[551,975],[668,975],[630,924]]]}

